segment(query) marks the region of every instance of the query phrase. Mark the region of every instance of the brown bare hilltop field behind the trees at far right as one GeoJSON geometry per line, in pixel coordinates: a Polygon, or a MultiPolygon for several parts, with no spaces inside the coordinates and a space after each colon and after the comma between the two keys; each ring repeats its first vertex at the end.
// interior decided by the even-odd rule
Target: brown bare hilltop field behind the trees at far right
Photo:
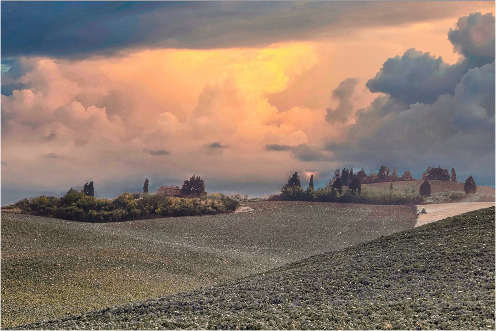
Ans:
{"type": "MultiPolygon", "coordinates": [[[[418,191],[420,185],[424,183],[423,180],[418,181],[407,181],[407,182],[392,182],[393,189],[404,191],[407,188],[415,187],[415,190],[418,191]]],[[[463,186],[464,183],[453,183],[448,181],[429,181],[431,185],[431,194],[440,193],[440,192],[464,192],[463,186]]],[[[377,189],[389,190],[389,186],[391,182],[385,183],[373,183],[373,184],[364,184],[363,186],[372,187],[377,189]]],[[[477,193],[483,195],[494,195],[496,194],[495,189],[489,186],[479,186],[477,185],[477,193]]]]}

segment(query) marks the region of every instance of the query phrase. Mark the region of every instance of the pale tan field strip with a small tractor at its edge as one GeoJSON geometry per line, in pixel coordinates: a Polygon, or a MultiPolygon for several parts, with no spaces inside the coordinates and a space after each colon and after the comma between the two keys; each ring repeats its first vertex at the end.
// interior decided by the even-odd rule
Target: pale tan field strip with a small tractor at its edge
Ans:
{"type": "Polygon", "coordinates": [[[477,210],[494,206],[495,202],[453,202],[453,203],[436,203],[436,204],[418,204],[417,210],[426,208],[427,214],[419,214],[415,227],[435,222],[440,219],[463,214],[467,211],[477,210]]]}

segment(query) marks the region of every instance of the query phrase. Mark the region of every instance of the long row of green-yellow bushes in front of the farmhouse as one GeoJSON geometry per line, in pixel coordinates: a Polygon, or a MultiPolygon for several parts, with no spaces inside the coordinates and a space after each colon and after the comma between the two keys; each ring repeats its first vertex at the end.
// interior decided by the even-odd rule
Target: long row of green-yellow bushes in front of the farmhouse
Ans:
{"type": "MultiPolygon", "coordinates": [[[[241,197],[241,196],[240,196],[241,197]]],[[[119,222],[141,218],[211,215],[236,210],[238,196],[215,194],[178,198],[124,193],[116,199],[96,199],[70,189],[62,198],[22,199],[8,206],[22,213],[84,222],[119,222]]]]}

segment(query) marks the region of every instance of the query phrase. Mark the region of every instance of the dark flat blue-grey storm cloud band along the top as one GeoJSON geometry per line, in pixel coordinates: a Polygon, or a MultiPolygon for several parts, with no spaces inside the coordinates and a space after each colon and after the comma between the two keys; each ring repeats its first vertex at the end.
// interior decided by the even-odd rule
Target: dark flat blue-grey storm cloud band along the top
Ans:
{"type": "MultiPolygon", "coordinates": [[[[125,47],[267,46],[315,31],[441,18],[462,4],[357,1],[6,1],[1,56],[81,58],[125,47]],[[354,19],[360,17],[360,20],[354,19]]],[[[3,63],[3,62],[2,62],[3,63]]]]}

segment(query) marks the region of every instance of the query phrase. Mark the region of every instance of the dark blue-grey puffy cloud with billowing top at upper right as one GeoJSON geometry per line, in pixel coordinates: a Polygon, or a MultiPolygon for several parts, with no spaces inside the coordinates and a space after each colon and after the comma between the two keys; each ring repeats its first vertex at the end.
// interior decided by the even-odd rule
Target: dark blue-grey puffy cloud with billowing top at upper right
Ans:
{"type": "Polygon", "coordinates": [[[452,95],[469,69],[494,61],[495,17],[480,12],[460,17],[456,29],[448,32],[448,39],[465,57],[461,62],[449,66],[441,57],[409,49],[401,57],[388,59],[366,86],[372,93],[387,93],[406,105],[433,103],[440,95],[452,95]]]}

